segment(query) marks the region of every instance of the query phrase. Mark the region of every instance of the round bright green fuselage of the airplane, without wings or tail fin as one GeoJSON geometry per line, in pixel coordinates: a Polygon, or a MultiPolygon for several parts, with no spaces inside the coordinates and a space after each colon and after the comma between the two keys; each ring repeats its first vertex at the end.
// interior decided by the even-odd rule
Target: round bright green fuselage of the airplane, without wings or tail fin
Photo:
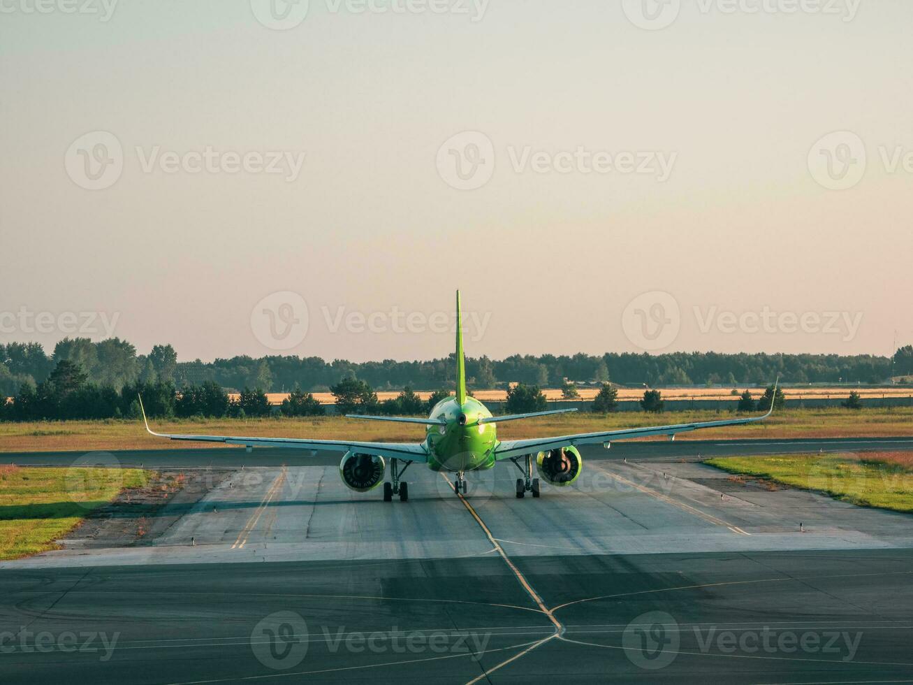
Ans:
{"type": "Polygon", "coordinates": [[[446,424],[425,428],[425,448],[428,466],[435,471],[474,471],[491,469],[495,465],[498,447],[498,428],[495,424],[480,424],[491,412],[475,397],[467,397],[462,405],[456,397],[438,402],[429,418],[444,419],[446,424]]]}

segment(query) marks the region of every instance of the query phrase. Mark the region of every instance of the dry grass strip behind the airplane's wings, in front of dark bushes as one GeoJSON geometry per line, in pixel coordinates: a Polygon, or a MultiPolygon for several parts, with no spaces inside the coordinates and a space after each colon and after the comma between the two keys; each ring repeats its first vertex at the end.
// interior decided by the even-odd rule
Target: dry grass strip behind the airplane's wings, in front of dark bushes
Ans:
{"type": "MultiPolygon", "coordinates": [[[[689,411],[660,415],[620,413],[609,416],[568,414],[513,421],[498,427],[498,437],[546,437],[613,430],[625,427],[712,421],[732,416],[728,412],[689,411]]],[[[380,421],[361,421],[341,416],[305,418],[195,419],[152,421],[161,432],[235,435],[251,437],[310,437],[386,442],[421,441],[424,428],[380,421]]],[[[913,408],[789,409],[767,421],[685,433],[677,439],[737,439],[782,437],[897,437],[913,436],[913,408]]],[[[649,438],[647,438],[649,439],[649,438]]],[[[663,438],[658,438],[663,439],[663,438]]],[[[142,421],[42,421],[0,423],[0,452],[167,449],[188,447],[225,448],[205,443],[187,443],[148,435],[142,421]]]]}

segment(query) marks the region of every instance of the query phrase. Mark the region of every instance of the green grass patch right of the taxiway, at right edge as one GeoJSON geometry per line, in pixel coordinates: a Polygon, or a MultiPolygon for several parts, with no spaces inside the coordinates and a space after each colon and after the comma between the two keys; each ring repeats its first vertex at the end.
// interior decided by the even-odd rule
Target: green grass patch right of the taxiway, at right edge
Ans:
{"type": "Polygon", "coordinates": [[[824,492],[858,506],[913,512],[913,469],[906,455],[799,454],[716,458],[705,463],[729,473],[824,492]]]}

